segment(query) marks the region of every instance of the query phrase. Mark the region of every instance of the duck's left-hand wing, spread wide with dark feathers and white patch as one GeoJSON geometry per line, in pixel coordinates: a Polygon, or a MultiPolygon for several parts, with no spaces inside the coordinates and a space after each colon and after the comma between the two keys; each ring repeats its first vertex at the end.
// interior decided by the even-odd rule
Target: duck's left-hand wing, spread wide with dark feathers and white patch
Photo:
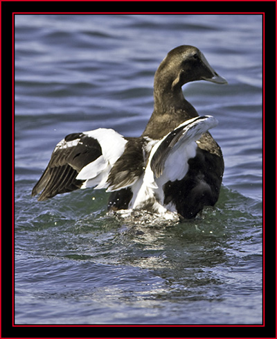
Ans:
{"type": "Polygon", "coordinates": [[[105,128],[67,135],[55,147],[32,195],[43,190],[39,200],[46,200],[75,189],[105,187],[111,166],[126,143],[122,135],[105,128]]]}

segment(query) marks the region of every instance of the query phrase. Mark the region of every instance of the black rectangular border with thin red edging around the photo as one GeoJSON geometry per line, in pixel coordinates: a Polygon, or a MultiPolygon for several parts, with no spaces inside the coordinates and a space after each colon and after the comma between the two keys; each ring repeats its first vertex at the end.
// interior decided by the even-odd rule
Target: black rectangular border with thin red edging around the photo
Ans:
{"type": "MultiPolygon", "coordinates": [[[[1,227],[1,337],[2,338],[276,338],[275,284],[275,94],[276,2],[275,1],[2,1],[2,227],[1,227]],[[12,326],[12,12],[265,12],[265,326],[12,326]],[[267,176],[265,175],[267,173],[267,176]],[[8,185],[3,186],[3,183],[8,185]],[[8,186],[8,189],[7,189],[8,186]],[[270,193],[270,195],[269,195],[270,193]],[[274,197],[274,198],[273,198],[274,197]],[[99,328],[98,328],[99,327],[99,328]],[[111,332],[112,330],[112,332],[111,332]],[[70,332],[69,332],[70,331],[70,332]],[[70,333],[70,334],[69,334],[70,333]]],[[[238,46],[239,48],[239,46],[238,46]]]]}

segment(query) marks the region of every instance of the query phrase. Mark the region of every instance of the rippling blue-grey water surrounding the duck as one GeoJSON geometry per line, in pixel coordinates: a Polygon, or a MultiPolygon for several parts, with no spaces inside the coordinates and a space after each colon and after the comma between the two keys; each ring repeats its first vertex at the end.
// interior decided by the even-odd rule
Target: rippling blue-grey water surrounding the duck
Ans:
{"type": "Polygon", "coordinates": [[[15,28],[15,323],[261,324],[262,17],[16,15],[15,28]],[[31,198],[66,134],[141,134],[154,71],[180,44],[229,81],[184,87],[220,121],[216,207],[173,225],[109,216],[105,191],[31,198]]]}

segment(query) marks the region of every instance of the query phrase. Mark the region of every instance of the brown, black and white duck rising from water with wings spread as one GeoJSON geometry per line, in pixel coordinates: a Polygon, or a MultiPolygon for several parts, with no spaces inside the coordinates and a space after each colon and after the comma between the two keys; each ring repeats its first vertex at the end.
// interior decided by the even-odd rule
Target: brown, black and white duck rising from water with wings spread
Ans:
{"type": "Polygon", "coordinates": [[[32,195],[44,201],[76,189],[105,189],[108,211],[149,211],[195,218],[215,206],[222,185],[222,150],[211,136],[217,119],[199,116],[184,97],[188,82],[226,84],[202,51],[172,49],[154,74],[154,110],[140,137],[98,128],[68,134],[55,146],[32,195]]]}

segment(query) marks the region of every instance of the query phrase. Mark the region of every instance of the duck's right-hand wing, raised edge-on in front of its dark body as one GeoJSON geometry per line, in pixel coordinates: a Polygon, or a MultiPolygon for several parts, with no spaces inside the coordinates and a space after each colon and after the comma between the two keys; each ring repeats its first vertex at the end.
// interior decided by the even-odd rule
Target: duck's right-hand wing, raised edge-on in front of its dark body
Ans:
{"type": "MultiPolygon", "coordinates": [[[[184,151],[187,148],[188,153],[190,153],[191,143],[197,141],[204,132],[216,125],[217,120],[213,116],[197,116],[181,123],[175,130],[168,133],[166,137],[154,146],[150,155],[150,167],[154,176],[160,177],[163,174],[166,160],[176,150],[182,147],[184,151]]],[[[184,155],[179,153],[176,153],[176,155],[177,157],[184,157],[184,155]]],[[[189,157],[190,155],[188,154],[189,157]]],[[[178,162],[172,162],[171,166],[178,166],[178,162]]]]}

